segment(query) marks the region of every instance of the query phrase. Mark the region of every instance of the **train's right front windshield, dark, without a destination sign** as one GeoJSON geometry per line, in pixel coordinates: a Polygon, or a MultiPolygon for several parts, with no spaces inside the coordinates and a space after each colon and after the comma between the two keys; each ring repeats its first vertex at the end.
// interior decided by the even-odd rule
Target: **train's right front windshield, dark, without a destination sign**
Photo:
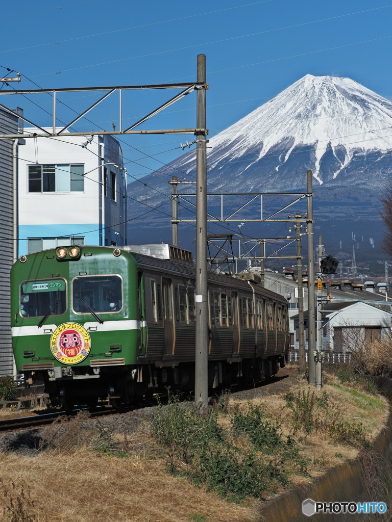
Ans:
{"type": "Polygon", "coordinates": [[[119,276],[82,276],[72,281],[75,314],[119,312],[122,309],[122,279],[119,276]]]}

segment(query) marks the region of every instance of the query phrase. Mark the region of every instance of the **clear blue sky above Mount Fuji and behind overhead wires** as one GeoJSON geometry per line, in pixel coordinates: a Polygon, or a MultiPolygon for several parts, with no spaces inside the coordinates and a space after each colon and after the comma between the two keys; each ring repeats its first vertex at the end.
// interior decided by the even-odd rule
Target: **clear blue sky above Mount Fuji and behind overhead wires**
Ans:
{"type": "MultiPolygon", "coordinates": [[[[20,0],[17,5],[2,5],[0,65],[24,75],[20,88],[35,87],[27,78],[45,88],[188,81],[195,79],[197,54],[204,53],[210,136],[308,73],[350,77],[392,99],[392,4],[387,0],[66,2],[20,0]]],[[[125,123],[136,121],[172,94],[171,90],[127,92],[125,123]]],[[[99,96],[65,93],[59,98],[83,111],[99,96]]],[[[51,112],[48,94],[2,97],[0,102],[20,106],[41,126],[51,124],[45,112],[51,112]]],[[[194,108],[191,94],[144,128],[194,127],[194,108]]],[[[63,105],[58,111],[63,121],[74,117],[63,105]]],[[[99,105],[88,118],[93,123],[79,121],[75,130],[112,129],[112,122],[118,124],[116,99],[99,105]]],[[[121,139],[128,172],[140,177],[162,166],[143,156],[158,155],[161,162],[169,162],[182,153],[175,149],[180,141],[191,137],[121,139]],[[132,163],[135,160],[138,164],[132,163]]]]}

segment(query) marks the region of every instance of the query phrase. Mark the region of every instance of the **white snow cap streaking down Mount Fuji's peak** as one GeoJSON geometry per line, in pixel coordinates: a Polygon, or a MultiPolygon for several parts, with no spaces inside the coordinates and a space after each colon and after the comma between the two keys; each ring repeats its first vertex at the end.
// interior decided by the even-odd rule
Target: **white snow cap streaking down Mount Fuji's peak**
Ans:
{"type": "MultiPolygon", "coordinates": [[[[238,122],[210,139],[210,167],[249,153],[253,161],[271,150],[278,154],[276,172],[294,149],[312,146],[314,176],[320,177],[321,158],[331,150],[337,167],[333,179],[354,153],[392,149],[392,102],[350,78],[305,75],[238,122]],[[281,153],[279,153],[281,152],[281,153]]],[[[183,167],[194,161],[184,158],[183,167]]]]}

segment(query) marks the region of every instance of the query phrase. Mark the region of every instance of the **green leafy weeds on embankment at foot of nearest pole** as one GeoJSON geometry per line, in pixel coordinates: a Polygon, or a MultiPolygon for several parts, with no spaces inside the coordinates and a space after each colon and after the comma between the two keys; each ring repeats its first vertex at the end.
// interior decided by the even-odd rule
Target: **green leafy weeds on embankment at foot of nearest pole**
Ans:
{"type": "Polygon", "coordinates": [[[285,440],[280,424],[267,419],[261,406],[236,407],[229,415],[234,439],[218,423],[216,408],[201,414],[178,401],[160,406],[151,429],[166,448],[169,471],[236,502],[262,499],[289,484],[287,467],[306,472],[294,438],[285,440]]]}

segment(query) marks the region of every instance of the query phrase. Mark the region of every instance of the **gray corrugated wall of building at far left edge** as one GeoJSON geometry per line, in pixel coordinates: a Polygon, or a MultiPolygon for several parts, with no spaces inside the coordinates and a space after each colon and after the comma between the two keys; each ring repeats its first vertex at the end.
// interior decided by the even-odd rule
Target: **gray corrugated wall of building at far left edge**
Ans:
{"type": "MultiPolygon", "coordinates": [[[[17,134],[18,119],[0,110],[0,133],[17,134]]],[[[13,140],[0,140],[0,375],[13,374],[9,271],[13,264],[13,140]]]]}

